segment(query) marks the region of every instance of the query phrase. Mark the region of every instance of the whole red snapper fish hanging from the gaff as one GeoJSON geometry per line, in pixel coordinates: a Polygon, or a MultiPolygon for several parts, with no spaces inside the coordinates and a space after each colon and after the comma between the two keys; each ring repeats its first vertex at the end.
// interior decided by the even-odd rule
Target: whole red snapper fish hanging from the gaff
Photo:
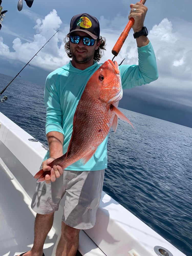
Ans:
{"type": "MultiPolygon", "coordinates": [[[[87,163],[108,135],[111,126],[114,132],[116,131],[118,118],[131,124],[117,108],[122,96],[118,64],[116,61],[105,61],[90,77],[79,100],[67,152],[52,161],[49,166],[52,168],[54,165],[60,165],[64,170],[80,159],[83,164],[87,163]]],[[[41,169],[34,178],[41,182],[47,174],[50,175],[50,171],[44,172],[41,169]]]]}

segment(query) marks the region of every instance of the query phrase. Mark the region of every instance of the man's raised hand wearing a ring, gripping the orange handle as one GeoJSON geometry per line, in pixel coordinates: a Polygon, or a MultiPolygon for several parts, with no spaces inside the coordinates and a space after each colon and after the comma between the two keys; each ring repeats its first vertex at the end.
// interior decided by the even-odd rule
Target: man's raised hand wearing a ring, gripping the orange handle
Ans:
{"type": "Polygon", "coordinates": [[[130,18],[134,19],[134,25],[132,26],[134,33],[139,32],[143,28],[145,15],[147,13],[147,7],[143,5],[140,2],[137,2],[136,4],[130,4],[130,18]],[[134,8],[136,9],[135,12],[133,12],[134,8]]]}

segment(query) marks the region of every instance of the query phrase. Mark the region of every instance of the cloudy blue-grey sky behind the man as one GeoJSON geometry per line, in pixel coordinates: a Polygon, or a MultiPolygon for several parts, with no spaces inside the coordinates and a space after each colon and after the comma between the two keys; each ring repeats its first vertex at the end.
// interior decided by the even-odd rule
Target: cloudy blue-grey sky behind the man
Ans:
{"type": "MultiPolygon", "coordinates": [[[[22,80],[42,85],[49,72],[69,62],[63,38],[69,32],[72,16],[89,13],[98,18],[100,35],[107,43],[100,61],[104,62],[112,59],[111,50],[128,22],[130,4],[135,3],[127,0],[98,0],[86,4],[76,0],[34,0],[29,8],[23,0],[23,9],[19,12],[17,2],[2,0],[1,4],[8,12],[0,31],[0,73],[14,77],[59,30],[20,73],[22,80]]],[[[134,97],[138,95],[137,98],[147,95],[147,100],[166,101],[170,106],[180,105],[192,111],[192,2],[147,0],[145,5],[148,11],[144,25],[155,51],[159,78],[142,86],[141,90],[131,89],[130,92],[134,97]]],[[[138,64],[133,30],[114,60],[120,63],[124,58],[123,64],[138,64]]],[[[129,91],[124,95],[129,95],[129,91]]]]}

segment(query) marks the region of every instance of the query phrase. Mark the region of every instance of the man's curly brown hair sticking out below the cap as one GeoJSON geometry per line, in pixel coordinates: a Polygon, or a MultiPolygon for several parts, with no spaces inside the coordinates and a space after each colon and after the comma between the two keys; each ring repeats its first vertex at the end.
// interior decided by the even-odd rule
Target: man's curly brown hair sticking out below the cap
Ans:
{"type": "MultiPolygon", "coordinates": [[[[71,51],[70,51],[70,45],[69,45],[69,35],[66,36],[63,41],[65,42],[65,50],[66,50],[67,56],[69,58],[72,58],[72,54],[71,54],[71,51]]],[[[103,50],[103,53],[104,53],[104,50],[106,50],[105,49],[106,38],[100,36],[99,39],[97,39],[97,41],[101,41],[101,44],[100,44],[99,48],[97,50],[95,50],[95,54],[94,54],[94,57],[93,57],[93,59],[95,61],[99,61],[101,59],[101,57],[103,56],[102,55],[102,50],[103,50]]]]}

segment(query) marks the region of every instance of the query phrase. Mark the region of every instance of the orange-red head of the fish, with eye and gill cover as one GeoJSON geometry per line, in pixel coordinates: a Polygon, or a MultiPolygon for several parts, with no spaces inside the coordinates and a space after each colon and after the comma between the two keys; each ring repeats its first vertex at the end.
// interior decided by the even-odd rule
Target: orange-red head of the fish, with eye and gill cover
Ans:
{"type": "Polygon", "coordinates": [[[122,99],[123,90],[119,66],[116,61],[107,60],[89,80],[94,97],[105,103],[122,99]]]}

